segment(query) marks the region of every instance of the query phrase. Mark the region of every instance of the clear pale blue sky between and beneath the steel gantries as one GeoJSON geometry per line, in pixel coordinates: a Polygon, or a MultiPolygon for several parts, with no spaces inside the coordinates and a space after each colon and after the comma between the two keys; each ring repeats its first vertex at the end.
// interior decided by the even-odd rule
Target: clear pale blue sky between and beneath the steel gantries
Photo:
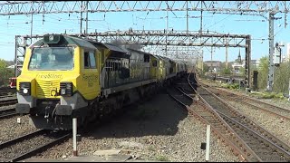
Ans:
{"type": "MultiPolygon", "coordinates": [[[[165,12],[118,12],[89,14],[89,33],[109,30],[163,30],[167,28],[165,12]]],[[[84,16],[85,14],[83,14],[84,16]]],[[[189,17],[198,17],[200,12],[189,12],[189,17]]],[[[14,35],[31,33],[31,15],[0,15],[0,58],[14,60],[14,35]]],[[[268,17],[268,15],[266,15],[268,17]]],[[[275,20],[275,42],[290,43],[290,24],[284,26],[284,14],[275,14],[282,19],[275,20]]],[[[289,16],[288,16],[289,17],[289,16]]],[[[80,14],[34,14],[33,34],[76,34],[80,32],[80,14]],[[43,21],[44,20],[44,21],[43,21]]],[[[82,29],[85,22],[82,23],[82,29]]],[[[198,31],[200,18],[189,18],[189,31],[198,31]]],[[[169,11],[169,29],[186,30],[186,12],[169,11]]],[[[268,21],[262,16],[236,14],[209,14],[203,12],[203,30],[221,34],[251,34],[252,59],[268,55],[268,21]],[[262,42],[261,39],[265,39],[262,42]]],[[[285,49],[283,53],[285,54],[285,49]]],[[[204,61],[210,60],[210,47],[203,48],[204,61]]],[[[238,51],[245,57],[244,48],[228,48],[228,61],[237,59],[238,51]]],[[[215,48],[213,60],[225,62],[225,48],[215,48]]]]}

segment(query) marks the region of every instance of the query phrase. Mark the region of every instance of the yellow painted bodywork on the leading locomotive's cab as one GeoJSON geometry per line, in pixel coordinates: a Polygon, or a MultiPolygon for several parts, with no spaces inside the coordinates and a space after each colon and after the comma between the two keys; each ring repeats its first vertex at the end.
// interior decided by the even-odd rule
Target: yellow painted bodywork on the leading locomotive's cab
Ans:
{"type": "MultiPolygon", "coordinates": [[[[74,66],[72,70],[51,70],[51,71],[30,71],[27,69],[28,60],[24,61],[24,68],[22,74],[17,78],[17,91],[24,93],[23,86],[25,83],[30,84],[30,88],[27,88],[28,95],[37,99],[60,99],[62,95],[61,84],[72,83],[72,88],[67,86],[73,95],[78,91],[82,94],[85,100],[92,100],[100,95],[100,82],[99,71],[97,69],[84,70],[81,67],[83,58],[80,58],[82,53],[80,47],[75,48],[73,61],[74,66]]],[[[31,58],[31,50],[26,53],[27,58],[31,58]]],[[[64,85],[64,84],[63,84],[64,85]]],[[[63,94],[65,92],[63,91],[63,94]]]]}

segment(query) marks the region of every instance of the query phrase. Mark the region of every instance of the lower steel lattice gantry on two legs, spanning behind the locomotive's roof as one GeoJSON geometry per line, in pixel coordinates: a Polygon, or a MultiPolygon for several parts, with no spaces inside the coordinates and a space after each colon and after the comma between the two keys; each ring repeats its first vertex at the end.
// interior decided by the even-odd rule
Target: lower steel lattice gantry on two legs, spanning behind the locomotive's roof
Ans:
{"type": "MultiPolygon", "coordinates": [[[[164,33],[164,31],[111,31],[104,33],[91,33],[91,34],[67,34],[72,36],[81,36],[86,39],[92,39],[101,43],[111,43],[116,40],[121,40],[121,43],[125,45],[133,45],[138,43],[142,46],[160,46],[160,51],[155,52],[155,54],[166,55],[174,57],[178,53],[183,53],[183,51],[178,52],[172,51],[172,46],[181,46],[181,47],[194,47],[194,46],[217,46],[217,47],[244,47],[246,48],[245,54],[245,84],[250,87],[250,61],[251,61],[251,36],[244,34],[200,34],[198,32],[175,32],[173,31],[170,34],[164,33]],[[165,39],[167,36],[167,42],[165,39]],[[225,42],[227,38],[227,42],[225,42]],[[164,45],[169,46],[169,51],[162,51],[164,45]],[[171,47],[170,47],[171,46],[171,47]],[[173,52],[173,53],[172,53],[173,52]]],[[[22,63],[24,60],[25,48],[31,43],[31,39],[40,39],[43,35],[16,35],[15,36],[15,58],[16,76],[21,72],[22,63]]],[[[143,47],[144,48],[144,47],[143,47]]],[[[148,49],[144,48],[144,51],[148,49]]],[[[149,52],[149,51],[148,51],[149,52]]],[[[151,51],[149,52],[151,53],[151,51]]],[[[195,52],[194,52],[195,53],[195,52]]],[[[175,57],[177,58],[177,57],[175,57]]]]}

